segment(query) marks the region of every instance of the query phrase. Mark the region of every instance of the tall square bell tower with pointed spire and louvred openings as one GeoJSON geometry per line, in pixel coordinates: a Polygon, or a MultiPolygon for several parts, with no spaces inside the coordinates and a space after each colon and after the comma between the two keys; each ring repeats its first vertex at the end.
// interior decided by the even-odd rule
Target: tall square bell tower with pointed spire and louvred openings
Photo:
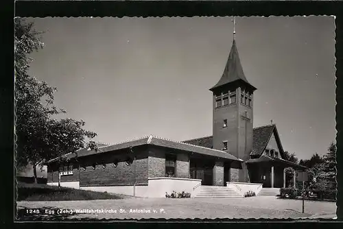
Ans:
{"type": "Polygon", "coordinates": [[[241,168],[231,167],[231,181],[250,182],[245,161],[252,151],[252,104],[256,89],[246,80],[241,67],[234,29],[224,73],[210,89],[213,92],[213,149],[224,150],[244,160],[241,168]]]}

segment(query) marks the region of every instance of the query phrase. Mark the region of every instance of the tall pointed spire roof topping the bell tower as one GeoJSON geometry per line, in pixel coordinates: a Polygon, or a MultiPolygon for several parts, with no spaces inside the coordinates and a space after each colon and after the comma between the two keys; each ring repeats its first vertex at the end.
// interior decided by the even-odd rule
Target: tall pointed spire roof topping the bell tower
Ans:
{"type": "MultiPolygon", "coordinates": [[[[224,84],[228,84],[236,80],[243,80],[249,84],[248,80],[246,80],[246,76],[244,75],[243,68],[241,67],[236,41],[233,40],[233,45],[231,47],[230,54],[228,55],[228,60],[226,61],[224,73],[217,84],[215,84],[215,86],[213,86],[210,90],[213,91],[214,88],[223,86],[224,84]]],[[[249,85],[252,86],[251,84],[249,85]]],[[[252,88],[256,89],[254,86],[252,86],[252,88]]]]}

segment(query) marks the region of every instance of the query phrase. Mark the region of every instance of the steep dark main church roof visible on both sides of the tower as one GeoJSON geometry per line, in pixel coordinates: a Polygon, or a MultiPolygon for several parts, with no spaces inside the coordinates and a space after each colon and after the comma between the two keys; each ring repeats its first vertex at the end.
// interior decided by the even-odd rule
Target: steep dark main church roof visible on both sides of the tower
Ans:
{"type": "MultiPolygon", "coordinates": [[[[263,125],[252,130],[252,152],[250,155],[261,155],[263,150],[268,144],[272,133],[276,131],[276,125],[263,125]]],[[[276,134],[277,135],[277,134],[276,134]]],[[[184,143],[189,143],[193,145],[206,146],[208,148],[213,147],[213,136],[206,136],[202,138],[193,138],[184,143]]]]}

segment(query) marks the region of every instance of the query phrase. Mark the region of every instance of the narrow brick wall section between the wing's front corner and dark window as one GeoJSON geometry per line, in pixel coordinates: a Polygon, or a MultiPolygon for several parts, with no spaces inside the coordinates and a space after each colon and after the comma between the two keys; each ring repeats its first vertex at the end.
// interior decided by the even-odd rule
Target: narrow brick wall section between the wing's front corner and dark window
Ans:
{"type": "Polygon", "coordinates": [[[165,177],[165,149],[149,147],[148,177],[165,177]]]}

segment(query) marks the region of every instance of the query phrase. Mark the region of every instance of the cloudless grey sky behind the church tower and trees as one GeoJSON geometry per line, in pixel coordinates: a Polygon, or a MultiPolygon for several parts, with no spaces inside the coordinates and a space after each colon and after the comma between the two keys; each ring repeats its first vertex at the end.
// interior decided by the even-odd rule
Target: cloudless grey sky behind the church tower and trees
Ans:
{"type": "MultiPolygon", "coordinates": [[[[212,135],[209,88],[224,71],[232,17],[36,18],[45,48],[29,74],[55,86],[61,117],[82,119],[96,141],[150,134],[212,135]]],[[[236,44],[254,94],[254,127],[276,123],[300,159],[335,141],[333,16],[236,17],[236,44]]]]}

